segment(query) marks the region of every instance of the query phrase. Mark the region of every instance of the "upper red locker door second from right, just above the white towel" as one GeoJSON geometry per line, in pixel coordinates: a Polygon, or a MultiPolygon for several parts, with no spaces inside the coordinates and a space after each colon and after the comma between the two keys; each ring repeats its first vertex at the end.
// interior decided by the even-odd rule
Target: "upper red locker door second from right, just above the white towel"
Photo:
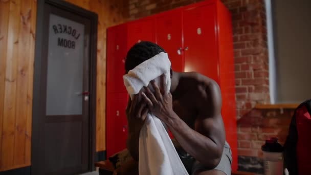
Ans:
{"type": "Polygon", "coordinates": [[[184,72],[182,50],[182,11],[174,10],[156,17],[157,43],[167,53],[172,69],[184,72]]]}

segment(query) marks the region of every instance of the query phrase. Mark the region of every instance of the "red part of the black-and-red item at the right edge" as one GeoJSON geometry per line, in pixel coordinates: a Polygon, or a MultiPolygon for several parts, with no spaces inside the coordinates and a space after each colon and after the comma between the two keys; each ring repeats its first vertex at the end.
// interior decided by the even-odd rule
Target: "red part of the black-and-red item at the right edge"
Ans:
{"type": "Polygon", "coordinates": [[[309,174],[311,171],[311,116],[306,106],[296,111],[297,124],[297,165],[299,174],[309,174]]]}

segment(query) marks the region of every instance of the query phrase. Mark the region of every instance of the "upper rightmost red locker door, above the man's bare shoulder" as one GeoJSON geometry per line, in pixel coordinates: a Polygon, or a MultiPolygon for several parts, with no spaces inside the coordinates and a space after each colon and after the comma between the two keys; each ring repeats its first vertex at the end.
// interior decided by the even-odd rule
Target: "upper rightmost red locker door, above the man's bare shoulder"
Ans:
{"type": "Polygon", "coordinates": [[[199,72],[219,83],[215,5],[184,10],[185,72],[199,72]]]}

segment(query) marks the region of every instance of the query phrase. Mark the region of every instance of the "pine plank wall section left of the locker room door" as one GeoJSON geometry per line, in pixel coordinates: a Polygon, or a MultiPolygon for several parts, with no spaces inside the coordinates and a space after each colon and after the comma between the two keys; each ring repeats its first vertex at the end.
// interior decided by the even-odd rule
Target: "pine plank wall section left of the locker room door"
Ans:
{"type": "Polygon", "coordinates": [[[0,1],[0,171],[31,164],[34,12],[35,0],[0,1]]]}

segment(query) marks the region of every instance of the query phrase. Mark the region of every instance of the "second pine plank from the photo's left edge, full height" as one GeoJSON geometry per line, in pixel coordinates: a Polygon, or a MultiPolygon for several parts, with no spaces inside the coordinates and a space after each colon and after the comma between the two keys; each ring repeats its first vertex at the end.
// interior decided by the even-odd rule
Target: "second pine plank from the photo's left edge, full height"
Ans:
{"type": "Polygon", "coordinates": [[[2,130],[2,166],[13,166],[20,1],[10,1],[2,130]]]}

